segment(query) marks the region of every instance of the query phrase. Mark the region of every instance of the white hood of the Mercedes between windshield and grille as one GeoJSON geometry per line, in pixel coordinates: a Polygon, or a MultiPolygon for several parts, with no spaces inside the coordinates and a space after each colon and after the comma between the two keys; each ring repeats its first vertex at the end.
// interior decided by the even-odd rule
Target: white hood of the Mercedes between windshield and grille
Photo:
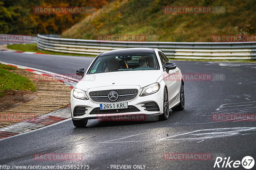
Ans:
{"type": "Polygon", "coordinates": [[[155,83],[161,75],[162,74],[159,70],[136,70],[86,74],[76,84],[76,88],[83,89],[85,91],[96,87],[120,85],[137,85],[142,88],[155,83]]]}

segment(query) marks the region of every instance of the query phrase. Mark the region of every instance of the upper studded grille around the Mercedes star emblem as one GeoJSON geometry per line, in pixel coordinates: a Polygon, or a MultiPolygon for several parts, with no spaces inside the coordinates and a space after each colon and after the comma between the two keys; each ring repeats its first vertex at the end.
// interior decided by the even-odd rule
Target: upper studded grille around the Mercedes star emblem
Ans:
{"type": "Polygon", "coordinates": [[[102,103],[113,103],[108,99],[108,94],[111,91],[115,91],[118,94],[118,98],[114,102],[123,102],[127,100],[134,99],[139,90],[138,89],[116,89],[116,90],[101,90],[101,91],[91,91],[89,96],[94,102],[102,102],[102,103]]]}

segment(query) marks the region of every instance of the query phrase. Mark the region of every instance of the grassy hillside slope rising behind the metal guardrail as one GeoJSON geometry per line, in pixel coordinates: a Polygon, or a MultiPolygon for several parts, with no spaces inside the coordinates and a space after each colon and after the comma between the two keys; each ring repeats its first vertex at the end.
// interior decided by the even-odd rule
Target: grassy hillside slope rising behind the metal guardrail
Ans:
{"type": "Polygon", "coordinates": [[[211,42],[212,35],[255,35],[253,0],[118,0],[63,32],[63,38],[155,35],[159,41],[211,42]],[[224,6],[224,14],[164,14],[164,6],[224,6]]]}

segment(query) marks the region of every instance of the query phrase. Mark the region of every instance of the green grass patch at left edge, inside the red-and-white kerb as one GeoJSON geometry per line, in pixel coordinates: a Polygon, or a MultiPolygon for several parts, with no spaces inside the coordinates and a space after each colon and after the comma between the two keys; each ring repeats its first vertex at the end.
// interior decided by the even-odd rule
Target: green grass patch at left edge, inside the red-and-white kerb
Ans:
{"type": "Polygon", "coordinates": [[[36,91],[34,84],[28,78],[8,71],[13,69],[16,67],[0,63],[0,97],[4,97],[5,93],[11,90],[36,91]]]}

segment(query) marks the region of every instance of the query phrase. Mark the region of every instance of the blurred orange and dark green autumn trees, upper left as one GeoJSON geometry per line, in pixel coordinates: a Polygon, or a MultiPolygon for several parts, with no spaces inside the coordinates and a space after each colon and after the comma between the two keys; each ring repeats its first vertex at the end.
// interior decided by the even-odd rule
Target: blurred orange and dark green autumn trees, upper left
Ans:
{"type": "Polygon", "coordinates": [[[0,0],[1,34],[61,34],[75,23],[91,14],[36,14],[40,7],[95,7],[108,4],[109,0],[0,0]]]}

